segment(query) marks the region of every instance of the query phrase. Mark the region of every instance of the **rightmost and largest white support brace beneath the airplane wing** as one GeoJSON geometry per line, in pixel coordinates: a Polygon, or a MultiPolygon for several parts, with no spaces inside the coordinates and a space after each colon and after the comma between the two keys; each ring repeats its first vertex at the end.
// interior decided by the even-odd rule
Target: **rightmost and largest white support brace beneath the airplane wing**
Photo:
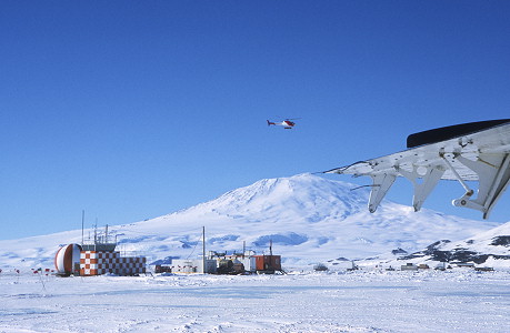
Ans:
{"type": "Polygon", "coordinates": [[[469,160],[460,154],[454,158],[467,168],[478,174],[479,185],[477,199],[472,200],[473,191],[462,181],[454,171],[450,162],[441,155],[447,162],[450,170],[466,189],[466,194],[452,201],[454,206],[470,208],[481,211],[483,219],[489,218],[493,206],[507,190],[510,181],[510,154],[482,154],[480,153],[477,161],[469,160]]]}

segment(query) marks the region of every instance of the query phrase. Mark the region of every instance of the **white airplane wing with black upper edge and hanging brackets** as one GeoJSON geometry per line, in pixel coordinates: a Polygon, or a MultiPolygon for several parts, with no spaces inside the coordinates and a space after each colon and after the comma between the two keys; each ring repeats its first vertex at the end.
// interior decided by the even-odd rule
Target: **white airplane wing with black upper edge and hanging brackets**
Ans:
{"type": "Polygon", "coordinates": [[[397,176],[412,182],[419,211],[439,180],[457,180],[466,190],[453,200],[487,219],[510,181],[510,119],[446,127],[408,137],[408,150],[360,161],[324,173],[372,178],[369,211],[374,212],[397,176]],[[466,181],[478,181],[474,191],[466,181]]]}

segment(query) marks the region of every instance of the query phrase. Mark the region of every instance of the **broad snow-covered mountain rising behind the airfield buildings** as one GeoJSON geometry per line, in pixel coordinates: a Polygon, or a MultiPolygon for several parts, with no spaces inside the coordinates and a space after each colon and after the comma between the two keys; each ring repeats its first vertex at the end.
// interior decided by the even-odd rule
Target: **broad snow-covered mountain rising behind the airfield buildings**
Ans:
{"type": "MultiPolygon", "coordinates": [[[[281,254],[284,265],[307,265],[336,259],[366,259],[396,249],[412,253],[443,239],[474,239],[500,225],[444,215],[383,201],[374,214],[369,192],[312,174],[267,179],[212,201],[148,221],[110,226],[118,250],[148,256],[196,258],[201,228],[207,250],[281,254]]],[[[86,230],[86,235],[93,233],[86,230]]],[[[81,230],[13,241],[0,241],[0,266],[51,266],[60,244],[80,243],[81,230]]]]}

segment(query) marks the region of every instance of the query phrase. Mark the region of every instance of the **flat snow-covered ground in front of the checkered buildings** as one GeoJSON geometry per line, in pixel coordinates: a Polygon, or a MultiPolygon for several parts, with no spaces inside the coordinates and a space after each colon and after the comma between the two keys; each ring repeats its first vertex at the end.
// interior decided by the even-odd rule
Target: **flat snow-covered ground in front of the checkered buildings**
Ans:
{"type": "Polygon", "coordinates": [[[0,332],[508,332],[510,272],[0,274],[0,332]]]}

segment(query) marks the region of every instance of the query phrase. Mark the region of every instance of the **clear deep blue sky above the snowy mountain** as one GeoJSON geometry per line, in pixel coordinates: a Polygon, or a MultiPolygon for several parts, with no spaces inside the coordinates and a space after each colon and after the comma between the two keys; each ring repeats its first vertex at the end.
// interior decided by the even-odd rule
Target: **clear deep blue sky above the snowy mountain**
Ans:
{"type": "MultiPolygon", "coordinates": [[[[87,226],[154,218],[509,118],[509,36],[508,1],[1,1],[0,239],[79,229],[82,210],[87,226]],[[301,119],[267,127],[280,118],[301,119]]],[[[462,194],[441,184],[424,208],[481,219],[451,208],[462,194]]]]}

